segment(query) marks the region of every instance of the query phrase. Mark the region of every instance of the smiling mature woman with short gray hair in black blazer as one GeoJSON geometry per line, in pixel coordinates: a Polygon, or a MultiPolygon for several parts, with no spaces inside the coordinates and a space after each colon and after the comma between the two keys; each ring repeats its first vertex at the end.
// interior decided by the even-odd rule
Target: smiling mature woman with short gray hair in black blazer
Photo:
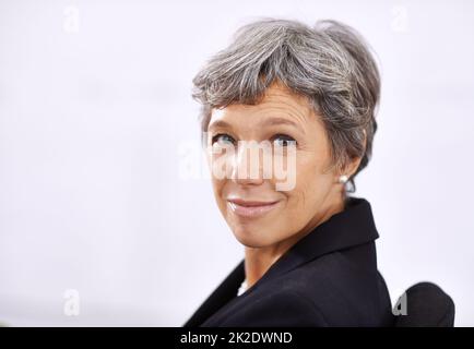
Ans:
{"type": "Polygon", "coordinates": [[[258,21],[193,83],[215,200],[245,258],[185,326],[390,325],[371,208],[347,195],[377,130],[380,79],[362,37],[333,21],[258,21]],[[262,165],[269,147],[257,176],[241,171],[251,142],[270,144],[286,178],[262,165]]]}

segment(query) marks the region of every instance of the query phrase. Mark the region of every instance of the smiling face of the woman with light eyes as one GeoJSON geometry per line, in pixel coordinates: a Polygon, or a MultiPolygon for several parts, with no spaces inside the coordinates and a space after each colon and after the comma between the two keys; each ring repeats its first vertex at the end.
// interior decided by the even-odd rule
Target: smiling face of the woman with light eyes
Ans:
{"type": "MultiPolygon", "coordinates": [[[[233,155],[209,151],[208,158],[211,169],[222,157],[233,158],[227,163],[232,176],[212,174],[212,184],[222,215],[244,245],[263,248],[297,240],[341,210],[342,173],[331,166],[330,144],[321,118],[305,97],[273,84],[258,105],[214,109],[206,139],[208,149],[223,144],[235,149],[233,155]],[[249,157],[241,156],[242,141],[266,142],[274,154],[276,148],[294,146],[294,163],[287,166],[296,172],[295,185],[279,190],[282,178],[264,176],[262,166],[258,176],[237,176],[239,168],[250,168],[249,157]]],[[[259,159],[262,154],[259,153],[259,159]]],[[[273,157],[279,156],[285,163],[288,154],[283,149],[273,157]]]]}

